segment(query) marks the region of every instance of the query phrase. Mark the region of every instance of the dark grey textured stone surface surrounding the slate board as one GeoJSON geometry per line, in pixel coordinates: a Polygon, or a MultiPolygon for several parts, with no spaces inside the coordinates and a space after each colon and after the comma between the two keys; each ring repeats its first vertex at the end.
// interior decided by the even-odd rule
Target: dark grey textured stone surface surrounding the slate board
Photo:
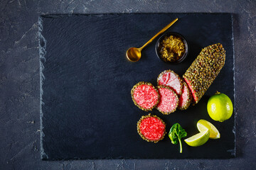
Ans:
{"type": "MultiPolygon", "coordinates": [[[[0,1],[0,169],[255,169],[256,1],[0,1]],[[52,13],[234,13],[235,159],[40,158],[38,16],[52,13]]],[[[189,29],[189,28],[188,28],[189,29]]]]}

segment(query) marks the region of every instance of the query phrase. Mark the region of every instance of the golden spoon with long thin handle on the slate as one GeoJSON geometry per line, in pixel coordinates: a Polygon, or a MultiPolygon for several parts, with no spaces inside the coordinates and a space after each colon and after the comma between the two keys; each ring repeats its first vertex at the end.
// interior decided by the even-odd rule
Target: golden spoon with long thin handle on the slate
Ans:
{"type": "Polygon", "coordinates": [[[140,48],[130,47],[127,50],[127,54],[126,54],[127,59],[130,60],[131,62],[139,61],[139,59],[142,57],[142,49],[144,47],[146,47],[146,45],[148,45],[150,42],[152,42],[152,40],[154,40],[159,34],[164,33],[164,31],[167,30],[170,26],[172,26],[177,20],[178,20],[178,18],[176,18],[174,21],[169,23],[166,27],[164,27],[162,30],[160,30],[159,33],[154,35],[154,37],[152,37],[148,42],[146,42],[146,44],[144,44],[142,47],[140,47],[140,48]]]}

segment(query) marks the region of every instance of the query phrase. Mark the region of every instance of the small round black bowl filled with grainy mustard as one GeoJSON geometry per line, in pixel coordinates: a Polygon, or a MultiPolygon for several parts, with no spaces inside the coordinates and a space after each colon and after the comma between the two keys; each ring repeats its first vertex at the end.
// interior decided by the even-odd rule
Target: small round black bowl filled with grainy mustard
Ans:
{"type": "Polygon", "coordinates": [[[156,42],[156,55],[163,62],[178,64],[188,56],[188,42],[179,33],[164,33],[156,42]]]}

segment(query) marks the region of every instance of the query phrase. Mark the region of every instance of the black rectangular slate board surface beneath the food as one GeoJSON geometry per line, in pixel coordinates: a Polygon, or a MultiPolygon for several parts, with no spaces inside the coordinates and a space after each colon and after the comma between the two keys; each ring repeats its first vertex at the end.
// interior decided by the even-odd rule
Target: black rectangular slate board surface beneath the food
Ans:
{"type": "Polygon", "coordinates": [[[229,13],[154,13],[42,16],[39,18],[41,57],[42,159],[170,159],[230,158],[235,156],[235,117],[224,123],[210,119],[209,96],[216,90],[234,103],[233,21],[229,13]],[[170,31],[181,33],[190,45],[181,64],[161,62],[156,40],[129,62],[125,52],[140,47],[161,28],[179,18],[170,31]],[[42,30],[43,29],[43,30],[42,30]],[[156,85],[165,69],[183,75],[203,47],[220,42],[227,52],[225,66],[196,106],[158,115],[169,132],[180,123],[188,137],[196,123],[209,120],[220,131],[219,140],[188,147],[183,154],[166,135],[157,144],[137,134],[137,121],[148,114],[134,106],[130,91],[138,81],[156,85]],[[44,69],[43,69],[44,68],[44,69]]]}

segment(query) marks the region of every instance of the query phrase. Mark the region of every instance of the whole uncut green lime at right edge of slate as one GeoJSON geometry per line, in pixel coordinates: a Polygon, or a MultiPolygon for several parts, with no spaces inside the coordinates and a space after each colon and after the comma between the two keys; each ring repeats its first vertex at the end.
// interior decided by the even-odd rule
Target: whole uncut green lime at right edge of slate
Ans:
{"type": "Polygon", "coordinates": [[[220,92],[217,91],[215,95],[209,98],[207,111],[210,118],[215,121],[223,122],[231,117],[233,104],[227,95],[220,94],[220,92]]]}

